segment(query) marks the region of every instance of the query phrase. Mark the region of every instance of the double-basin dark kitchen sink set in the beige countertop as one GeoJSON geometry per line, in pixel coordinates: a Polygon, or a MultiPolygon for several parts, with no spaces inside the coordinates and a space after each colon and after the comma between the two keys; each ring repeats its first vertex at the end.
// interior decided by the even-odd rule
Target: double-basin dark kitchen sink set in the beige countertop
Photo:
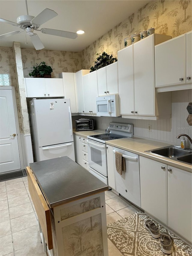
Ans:
{"type": "Polygon", "coordinates": [[[191,149],[182,149],[179,146],[167,146],[158,149],[146,150],[145,152],[191,164],[191,149]]]}

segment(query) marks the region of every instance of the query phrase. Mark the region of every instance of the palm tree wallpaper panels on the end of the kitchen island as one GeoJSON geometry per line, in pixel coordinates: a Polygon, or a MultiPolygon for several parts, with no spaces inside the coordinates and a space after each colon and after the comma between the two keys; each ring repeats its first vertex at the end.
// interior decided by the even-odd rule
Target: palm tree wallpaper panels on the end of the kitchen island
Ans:
{"type": "MultiPolygon", "coordinates": [[[[100,197],[92,198],[60,209],[61,221],[101,207],[100,197]]],[[[63,246],[66,256],[103,255],[101,214],[62,228],[63,246]],[[94,254],[92,254],[94,253],[94,254]]]]}

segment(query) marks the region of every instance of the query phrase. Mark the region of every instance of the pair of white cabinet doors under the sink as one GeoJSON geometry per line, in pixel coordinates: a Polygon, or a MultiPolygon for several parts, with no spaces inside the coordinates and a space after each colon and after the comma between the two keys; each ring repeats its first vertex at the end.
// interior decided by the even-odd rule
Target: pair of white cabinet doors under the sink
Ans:
{"type": "Polygon", "coordinates": [[[192,241],[192,173],[140,156],[141,208],[192,241]]]}

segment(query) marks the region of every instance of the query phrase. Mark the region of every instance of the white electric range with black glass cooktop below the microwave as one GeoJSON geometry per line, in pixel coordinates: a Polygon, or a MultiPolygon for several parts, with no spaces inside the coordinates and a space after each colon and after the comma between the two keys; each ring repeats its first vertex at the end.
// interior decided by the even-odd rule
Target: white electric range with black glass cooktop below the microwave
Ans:
{"type": "Polygon", "coordinates": [[[89,172],[108,185],[106,141],[133,137],[133,124],[110,122],[106,133],[87,137],[89,172]]]}

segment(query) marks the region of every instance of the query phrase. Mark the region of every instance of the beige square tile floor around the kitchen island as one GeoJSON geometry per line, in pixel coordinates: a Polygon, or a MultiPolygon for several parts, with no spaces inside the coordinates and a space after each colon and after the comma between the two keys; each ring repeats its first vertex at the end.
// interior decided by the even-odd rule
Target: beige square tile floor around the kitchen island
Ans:
{"type": "MultiPolygon", "coordinates": [[[[138,211],[113,191],[105,192],[107,224],[138,211]]],[[[108,239],[109,256],[121,252],[108,239]]],[[[27,177],[0,182],[0,256],[46,256],[27,177]]]]}

